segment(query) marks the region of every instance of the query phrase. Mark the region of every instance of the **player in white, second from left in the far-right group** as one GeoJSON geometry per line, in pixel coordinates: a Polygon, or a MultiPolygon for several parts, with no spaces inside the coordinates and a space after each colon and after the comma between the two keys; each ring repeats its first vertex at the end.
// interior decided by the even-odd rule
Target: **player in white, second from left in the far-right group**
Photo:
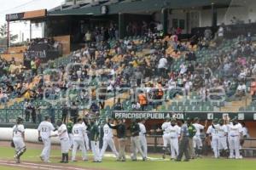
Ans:
{"type": "Polygon", "coordinates": [[[218,127],[218,150],[224,151],[224,156],[228,156],[228,144],[227,144],[227,135],[228,135],[228,128],[224,125],[224,120],[219,120],[219,127],[218,127]]]}

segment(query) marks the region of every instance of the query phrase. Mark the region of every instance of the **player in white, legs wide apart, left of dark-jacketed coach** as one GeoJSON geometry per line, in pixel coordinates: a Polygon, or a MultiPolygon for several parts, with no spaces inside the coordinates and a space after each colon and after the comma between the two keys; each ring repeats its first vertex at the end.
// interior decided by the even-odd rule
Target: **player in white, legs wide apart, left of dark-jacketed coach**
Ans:
{"type": "MultiPolygon", "coordinates": [[[[107,120],[108,123],[111,123],[112,120],[108,119],[107,120]]],[[[108,126],[108,123],[105,123],[105,125],[103,126],[103,145],[102,145],[102,150],[100,152],[100,157],[102,160],[102,157],[105,153],[105,150],[107,149],[108,145],[110,147],[110,149],[113,151],[113,154],[116,156],[116,158],[119,157],[119,153],[117,152],[114,142],[113,142],[113,131],[112,129],[108,126]]]]}

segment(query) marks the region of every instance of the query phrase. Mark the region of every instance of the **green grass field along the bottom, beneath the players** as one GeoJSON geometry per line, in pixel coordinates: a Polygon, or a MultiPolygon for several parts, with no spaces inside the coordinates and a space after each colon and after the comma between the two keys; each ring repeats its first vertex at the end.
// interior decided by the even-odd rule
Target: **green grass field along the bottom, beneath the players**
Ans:
{"type": "MultiPolygon", "coordinates": [[[[22,161],[40,162],[38,156],[41,150],[28,149],[22,161]]],[[[14,150],[10,147],[0,147],[0,160],[13,161],[14,150]]],[[[70,154],[71,156],[71,154],[70,154]]],[[[51,159],[53,163],[60,161],[60,150],[51,150],[51,159]]],[[[90,160],[91,154],[89,154],[90,160]]],[[[160,157],[160,155],[149,155],[149,157],[160,157]]],[[[79,155],[78,155],[79,158],[79,155]]],[[[63,164],[60,164],[63,166],[63,164]]],[[[200,158],[189,162],[176,162],[168,160],[159,161],[130,161],[117,162],[114,158],[104,157],[102,163],[93,163],[91,161],[83,162],[70,162],[69,166],[91,167],[93,169],[106,169],[106,170],[254,170],[256,168],[256,159],[242,159],[242,160],[228,160],[228,159],[213,159],[213,158],[200,158]]],[[[20,167],[4,167],[0,165],[1,170],[20,170],[20,167]]]]}

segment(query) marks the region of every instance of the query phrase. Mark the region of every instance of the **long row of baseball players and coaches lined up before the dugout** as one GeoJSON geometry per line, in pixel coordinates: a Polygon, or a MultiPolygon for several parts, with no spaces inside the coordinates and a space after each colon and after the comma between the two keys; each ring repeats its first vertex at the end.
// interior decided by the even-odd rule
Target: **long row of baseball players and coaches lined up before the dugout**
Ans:
{"type": "MultiPolygon", "coordinates": [[[[15,147],[15,161],[20,163],[20,156],[26,151],[25,144],[25,127],[22,124],[23,119],[17,118],[17,122],[13,127],[13,146],[15,147]]],[[[62,163],[68,162],[68,151],[72,148],[72,161],[76,160],[77,150],[82,150],[82,160],[88,161],[87,151],[93,153],[94,162],[102,162],[102,157],[105,150],[108,148],[113,151],[117,161],[126,161],[125,146],[126,146],[126,130],[131,132],[131,160],[137,161],[137,153],[143,157],[143,161],[148,159],[147,145],[147,130],[144,126],[146,120],[141,120],[137,123],[136,119],[131,119],[131,125],[127,128],[125,119],[117,119],[117,123],[113,125],[113,119],[107,119],[103,126],[103,143],[102,149],[99,148],[100,127],[95,118],[85,120],[78,118],[74,124],[57,122],[57,128],[50,122],[50,117],[45,116],[44,122],[38,126],[38,141],[43,142],[44,149],[40,158],[44,162],[50,162],[50,146],[51,137],[58,137],[61,141],[62,163]],[[119,152],[115,148],[113,141],[113,129],[116,129],[118,139],[119,152]],[[57,131],[57,133],[52,133],[57,131]],[[90,134],[90,138],[88,137],[90,134]],[[90,140],[89,140],[90,139],[90,140]],[[89,144],[90,142],[90,144],[89,144]]],[[[166,118],[156,132],[162,132],[163,135],[163,158],[166,158],[166,150],[170,149],[171,159],[181,161],[183,154],[184,161],[189,161],[196,156],[201,156],[202,140],[201,133],[207,127],[199,123],[199,119],[195,118],[177,121],[176,119],[166,118]],[[179,126],[178,126],[179,125],[179,126]],[[170,145],[170,148],[168,146],[170,145]]],[[[214,157],[218,158],[220,152],[229,158],[240,159],[241,140],[247,136],[245,130],[236,118],[229,121],[227,118],[212,121],[212,124],[207,127],[207,138],[211,139],[211,146],[214,157]]]]}

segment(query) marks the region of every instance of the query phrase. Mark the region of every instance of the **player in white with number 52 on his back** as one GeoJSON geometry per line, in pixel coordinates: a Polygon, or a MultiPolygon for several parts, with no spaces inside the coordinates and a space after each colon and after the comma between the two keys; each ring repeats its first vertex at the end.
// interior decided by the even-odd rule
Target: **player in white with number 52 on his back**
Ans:
{"type": "Polygon", "coordinates": [[[49,116],[45,116],[44,121],[41,122],[38,126],[38,140],[43,141],[44,143],[44,149],[41,153],[41,160],[44,162],[50,162],[49,161],[49,154],[50,154],[50,135],[51,131],[54,131],[55,127],[50,122],[49,116]]]}

